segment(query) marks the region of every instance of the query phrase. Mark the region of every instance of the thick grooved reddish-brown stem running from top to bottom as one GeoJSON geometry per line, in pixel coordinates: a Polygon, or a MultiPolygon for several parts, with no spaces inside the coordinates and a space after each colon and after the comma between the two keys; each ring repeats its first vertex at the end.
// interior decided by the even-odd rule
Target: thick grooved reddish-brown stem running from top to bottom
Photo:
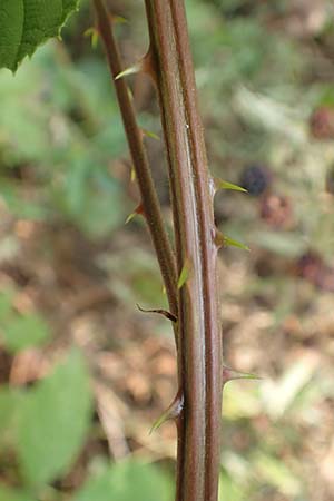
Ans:
{"type": "Polygon", "coordinates": [[[177,501],[216,501],[222,412],[222,333],[218,318],[213,196],[183,0],[146,0],[169,165],[179,291],[177,501]]]}

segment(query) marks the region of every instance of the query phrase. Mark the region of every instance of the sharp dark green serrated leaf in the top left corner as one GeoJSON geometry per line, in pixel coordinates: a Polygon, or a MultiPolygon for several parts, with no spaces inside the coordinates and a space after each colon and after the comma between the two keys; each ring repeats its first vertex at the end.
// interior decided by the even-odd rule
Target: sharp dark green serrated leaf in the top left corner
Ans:
{"type": "Polygon", "coordinates": [[[78,0],[1,0],[0,68],[16,71],[26,56],[60,35],[78,0]]]}

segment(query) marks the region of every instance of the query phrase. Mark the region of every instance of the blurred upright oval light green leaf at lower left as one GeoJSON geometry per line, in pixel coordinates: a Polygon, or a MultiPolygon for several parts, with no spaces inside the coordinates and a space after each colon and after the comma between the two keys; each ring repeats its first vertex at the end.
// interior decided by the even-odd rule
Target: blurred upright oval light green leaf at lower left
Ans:
{"type": "Polygon", "coordinates": [[[85,443],[90,415],[89,374],[73,350],[22,405],[18,455],[30,484],[50,482],[68,470],[85,443]]]}

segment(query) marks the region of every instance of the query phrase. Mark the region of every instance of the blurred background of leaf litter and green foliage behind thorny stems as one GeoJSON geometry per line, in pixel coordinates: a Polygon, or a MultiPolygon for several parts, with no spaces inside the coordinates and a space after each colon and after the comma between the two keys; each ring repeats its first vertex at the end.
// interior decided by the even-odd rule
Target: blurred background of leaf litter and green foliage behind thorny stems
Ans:
{"type": "MultiPolygon", "coordinates": [[[[188,0],[222,254],[224,501],[334,495],[334,10],[328,0],[188,0]]],[[[146,50],[143,2],[128,63],[146,50]]],[[[89,2],[16,77],[0,71],[0,499],[170,501],[173,333],[89,2]]],[[[156,98],[131,82],[145,129],[156,98]]],[[[163,145],[146,138],[170,224],[163,145]]]]}

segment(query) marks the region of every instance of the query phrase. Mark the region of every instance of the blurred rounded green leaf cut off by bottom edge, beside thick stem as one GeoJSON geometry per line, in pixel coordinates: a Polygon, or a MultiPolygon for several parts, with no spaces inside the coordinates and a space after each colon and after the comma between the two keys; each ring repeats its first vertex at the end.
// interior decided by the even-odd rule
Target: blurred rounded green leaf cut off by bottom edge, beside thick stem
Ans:
{"type": "Polygon", "coordinates": [[[88,480],[73,501],[171,501],[171,491],[170,481],[155,465],[128,460],[88,480]]]}

